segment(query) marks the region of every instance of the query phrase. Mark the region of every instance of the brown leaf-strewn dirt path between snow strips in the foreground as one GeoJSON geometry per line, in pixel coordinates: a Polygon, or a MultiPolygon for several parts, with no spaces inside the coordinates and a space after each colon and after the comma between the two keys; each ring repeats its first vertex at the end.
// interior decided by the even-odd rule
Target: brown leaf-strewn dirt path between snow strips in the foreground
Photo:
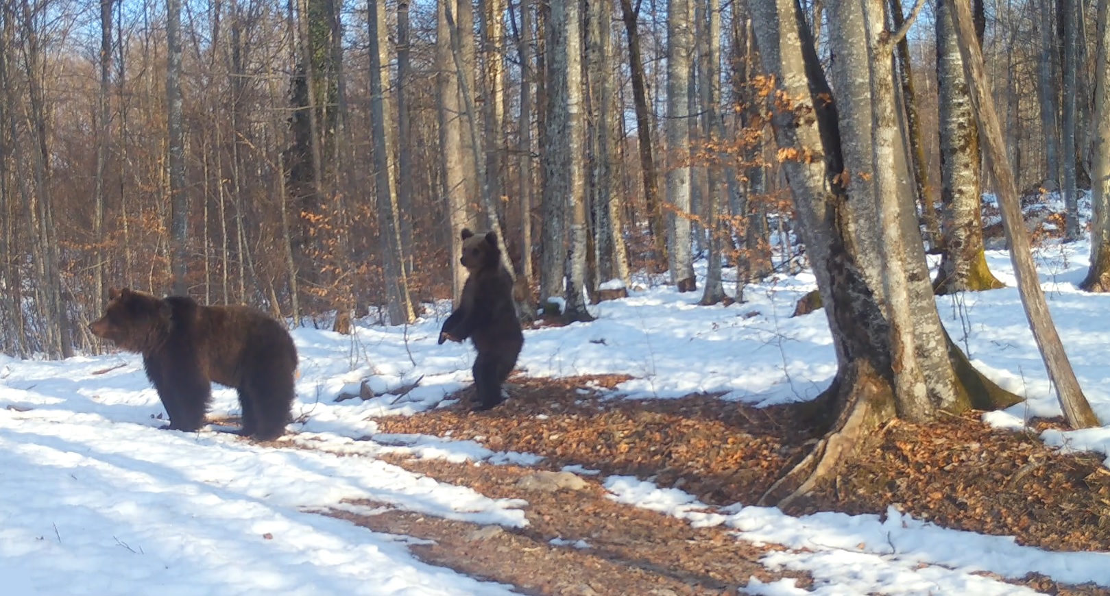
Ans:
{"type": "Polygon", "coordinates": [[[528,525],[480,526],[401,511],[333,515],[376,532],[434,541],[411,548],[428,563],[513,584],[525,594],[736,594],[737,586],[753,576],[770,582],[786,575],[797,577],[799,586],[811,583],[801,574],[773,573],[759,565],[759,557],[774,547],[737,542],[720,526],[694,528],[667,515],[614,503],[596,482],[529,489],[522,486],[522,478],[537,481],[533,468],[386,458],[486,496],[524,498],[528,525]]]}

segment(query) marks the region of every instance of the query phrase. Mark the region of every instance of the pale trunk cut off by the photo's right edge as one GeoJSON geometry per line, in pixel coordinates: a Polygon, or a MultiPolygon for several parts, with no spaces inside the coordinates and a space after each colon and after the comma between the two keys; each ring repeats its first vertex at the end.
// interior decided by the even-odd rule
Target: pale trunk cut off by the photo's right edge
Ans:
{"type": "Polygon", "coordinates": [[[1107,4],[1099,0],[1098,57],[1094,69],[1094,151],[1091,155],[1091,269],[1080,287],[1088,292],[1110,292],[1110,29],[1107,4]]]}

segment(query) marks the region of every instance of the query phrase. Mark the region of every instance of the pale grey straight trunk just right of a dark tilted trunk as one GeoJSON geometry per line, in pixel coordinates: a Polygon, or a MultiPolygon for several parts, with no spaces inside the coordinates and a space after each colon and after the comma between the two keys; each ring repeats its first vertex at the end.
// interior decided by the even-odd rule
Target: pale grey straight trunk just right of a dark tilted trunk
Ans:
{"type": "Polygon", "coordinates": [[[697,290],[690,254],[690,32],[689,0],[667,0],[667,244],[670,282],[697,290]]]}

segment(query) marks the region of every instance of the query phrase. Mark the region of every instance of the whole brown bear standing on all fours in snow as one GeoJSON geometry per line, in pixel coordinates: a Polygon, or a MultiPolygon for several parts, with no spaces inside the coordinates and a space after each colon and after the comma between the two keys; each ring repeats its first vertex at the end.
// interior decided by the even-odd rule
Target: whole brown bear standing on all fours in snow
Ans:
{"type": "Polygon", "coordinates": [[[258,309],[203,306],[188,296],[160,299],[123,289],[109,292],[104,315],[89,329],[121,350],[142,354],[168,428],[204,424],[212,381],[239,391],[244,436],[282,435],[296,396],[296,346],[289,331],[258,309]]]}

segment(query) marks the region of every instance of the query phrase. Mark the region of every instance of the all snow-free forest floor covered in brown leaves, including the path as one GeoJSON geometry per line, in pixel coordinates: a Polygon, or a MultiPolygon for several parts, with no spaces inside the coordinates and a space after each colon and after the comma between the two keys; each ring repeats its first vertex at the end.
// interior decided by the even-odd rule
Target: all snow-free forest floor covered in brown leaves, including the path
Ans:
{"type": "MultiPolygon", "coordinates": [[[[389,511],[335,515],[379,532],[431,541],[412,550],[428,563],[513,584],[527,594],[716,594],[749,578],[811,583],[759,559],[773,545],[737,541],[724,526],[695,527],[656,512],[615,504],[597,482],[522,489],[537,471],[564,466],[599,477],[635,476],[688,492],[710,506],[755,504],[811,446],[815,431],[799,406],[755,408],[690,395],[672,400],[605,398],[622,376],[515,377],[512,398],[486,413],[458,403],[411,416],[377,418],[387,434],[472,440],[498,452],[543,456],[534,466],[451,463],[393,454],[386,458],[438,482],[491,497],[525,497],[529,525],[493,528],[389,511]],[[591,388],[586,388],[591,387],[591,388]],[[581,541],[581,542],[579,542],[581,541]],[[578,544],[578,548],[574,545],[578,544]]],[[[1050,550],[1110,550],[1110,472],[1089,453],[1046,447],[1038,433],[991,428],[981,413],[932,424],[891,424],[855,466],[786,513],[884,515],[892,506],[939,526],[1009,535],[1050,550]]],[[[582,474],[578,477],[583,477],[582,474]]],[[[1005,579],[1048,594],[1108,594],[1030,573],[1005,579]]]]}

